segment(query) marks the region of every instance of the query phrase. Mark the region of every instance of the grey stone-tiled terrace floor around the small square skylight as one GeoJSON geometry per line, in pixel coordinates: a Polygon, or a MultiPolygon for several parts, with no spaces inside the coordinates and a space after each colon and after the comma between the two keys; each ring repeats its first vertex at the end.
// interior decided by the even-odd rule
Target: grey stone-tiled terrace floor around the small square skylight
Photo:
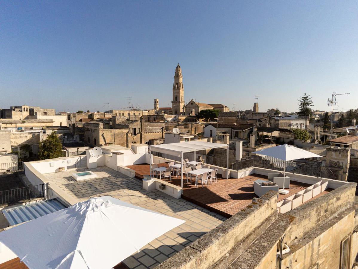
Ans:
{"type": "MultiPolygon", "coordinates": [[[[78,202],[91,197],[111,195],[133,205],[186,221],[147,244],[139,253],[124,260],[124,264],[129,268],[154,268],[226,220],[225,217],[187,200],[178,200],[159,191],[145,191],[142,189],[142,181],[126,177],[106,166],[95,169],[72,169],[44,176],[49,179],[50,185],[58,185],[78,202]],[[96,173],[98,178],[77,182],[71,177],[72,173],[89,170],[96,173]]],[[[150,229],[146,227],[145,222],[143,227],[150,229]]]]}

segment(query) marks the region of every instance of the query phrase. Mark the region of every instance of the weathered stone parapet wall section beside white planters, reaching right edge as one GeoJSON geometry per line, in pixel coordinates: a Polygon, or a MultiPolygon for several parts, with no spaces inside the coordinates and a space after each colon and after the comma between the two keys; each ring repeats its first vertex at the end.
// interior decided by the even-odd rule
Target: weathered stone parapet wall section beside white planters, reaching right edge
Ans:
{"type": "Polygon", "coordinates": [[[287,244],[315,229],[322,222],[333,217],[337,212],[353,206],[356,186],[357,183],[348,182],[323,196],[287,212],[287,215],[295,217],[290,229],[287,231],[287,244]]]}

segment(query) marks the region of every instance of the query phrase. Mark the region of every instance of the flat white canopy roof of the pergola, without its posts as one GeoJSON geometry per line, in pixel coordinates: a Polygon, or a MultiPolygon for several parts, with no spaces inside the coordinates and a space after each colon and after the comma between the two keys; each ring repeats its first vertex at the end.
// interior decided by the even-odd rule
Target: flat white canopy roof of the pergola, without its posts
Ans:
{"type": "Polygon", "coordinates": [[[193,140],[188,142],[152,145],[150,146],[150,151],[180,156],[181,153],[185,153],[185,152],[194,152],[199,150],[215,149],[215,148],[227,148],[227,144],[193,140]]]}

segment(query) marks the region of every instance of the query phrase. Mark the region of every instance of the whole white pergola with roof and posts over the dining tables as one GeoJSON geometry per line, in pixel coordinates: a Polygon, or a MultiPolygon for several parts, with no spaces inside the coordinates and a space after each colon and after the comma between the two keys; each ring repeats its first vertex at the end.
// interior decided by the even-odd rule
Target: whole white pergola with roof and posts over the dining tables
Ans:
{"type": "MultiPolygon", "coordinates": [[[[152,151],[160,152],[160,153],[180,157],[181,164],[182,164],[180,186],[182,188],[183,188],[183,153],[194,152],[194,160],[195,160],[197,151],[206,150],[206,149],[215,149],[215,148],[226,148],[227,149],[227,156],[226,156],[227,167],[226,168],[229,170],[229,145],[227,145],[227,144],[219,144],[219,143],[204,142],[204,141],[200,141],[200,140],[193,140],[193,141],[188,141],[188,142],[179,142],[179,143],[170,143],[170,144],[149,146],[150,152],[152,152],[152,151]]],[[[153,155],[151,158],[153,158],[153,155]]],[[[150,165],[152,163],[153,163],[153,160],[151,160],[150,165]]],[[[227,178],[228,178],[228,175],[229,175],[229,173],[227,173],[227,178]]]]}

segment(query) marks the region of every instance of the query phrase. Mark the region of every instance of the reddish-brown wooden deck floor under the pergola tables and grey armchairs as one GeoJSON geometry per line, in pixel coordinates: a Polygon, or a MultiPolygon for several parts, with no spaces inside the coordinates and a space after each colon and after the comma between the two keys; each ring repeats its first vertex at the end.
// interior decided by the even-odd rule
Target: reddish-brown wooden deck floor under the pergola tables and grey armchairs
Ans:
{"type": "MultiPolygon", "coordinates": [[[[163,163],[158,166],[168,167],[168,164],[163,163]]],[[[145,174],[149,174],[149,164],[130,165],[128,167],[136,171],[136,177],[138,178],[141,178],[145,174]]],[[[184,183],[183,180],[182,198],[207,208],[212,212],[219,213],[222,216],[231,217],[246,206],[250,205],[252,198],[258,197],[253,192],[253,182],[256,179],[267,180],[267,176],[252,174],[238,179],[222,179],[218,177],[217,183],[209,183],[209,186],[204,185],[203,188],[201,187],[200,181],[198,187],[196,187],[195,185],[190,185],[190,183],[184,183]]],[[[317,179],[317,181],[319,181],[319,179],[317,179]]],[[[172,181],[167,180],[167,182],[180,186],[180,178],[172,176],[172,181]]],[[[279,194],[278,201],[284,200],[285,198],[309,187],[310,185],[311,184],[291,181],[289,189],[290,192],[288,194],[279,194]]],[[[332,191],[332,189],[326,189],[326,191],[318,194],[311,200],[330,191],[332,191]]]]}

